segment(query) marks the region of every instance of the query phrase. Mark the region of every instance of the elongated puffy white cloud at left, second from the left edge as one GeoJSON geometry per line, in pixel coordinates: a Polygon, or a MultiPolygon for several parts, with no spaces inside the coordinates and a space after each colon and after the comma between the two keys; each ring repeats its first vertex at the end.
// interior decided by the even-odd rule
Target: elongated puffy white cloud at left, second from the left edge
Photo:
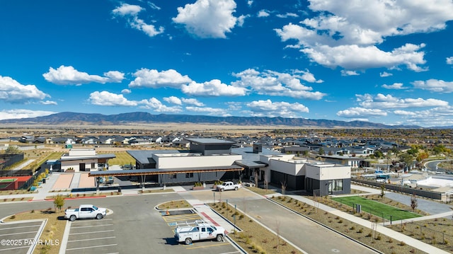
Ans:
{"type": "Polygon", "coordinates": [[[120,83],[124,79],[120,71],[108,71],[105,76],[90,75],[86,72],[77,71],[71,66],[60,66],[57,69],[49,68],[49,72],[42,74],[46,81],[57,85],[80,85],[82,83],[120,83]]]}

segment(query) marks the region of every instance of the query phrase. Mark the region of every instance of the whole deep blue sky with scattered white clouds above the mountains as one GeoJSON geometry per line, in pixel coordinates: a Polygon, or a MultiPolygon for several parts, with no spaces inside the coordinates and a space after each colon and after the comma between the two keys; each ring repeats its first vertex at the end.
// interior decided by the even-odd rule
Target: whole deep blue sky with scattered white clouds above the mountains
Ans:
{"type": "Polygon", "coordinates": [[[453,1],[0,1],[0,120],[453,125],[453,1]]]}

